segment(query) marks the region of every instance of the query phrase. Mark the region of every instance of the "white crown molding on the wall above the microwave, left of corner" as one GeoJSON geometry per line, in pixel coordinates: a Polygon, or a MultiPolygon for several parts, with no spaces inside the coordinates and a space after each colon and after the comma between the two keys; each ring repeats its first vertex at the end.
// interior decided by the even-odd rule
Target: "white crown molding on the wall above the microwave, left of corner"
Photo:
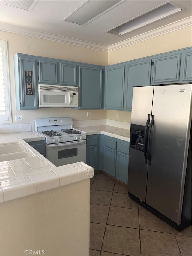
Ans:
{"type": "Polygon", "coordinates": [[[19,35],[32,36],[32,37],[46,39],[46,40],[55,41],[59,43],[72,44],[80,47],[86,47],[94,50],[101,50],[104,52],[108,52],[108,47],[101,44],[94,44],[86,41],[81,41],[78,39],[49,34],[46,32],[41,32],[41,31],[32,30],[32,29],[26,29],[26,28],[11,25],[11,24],[1,23],[0,30],[19,34],[19,35]]]}

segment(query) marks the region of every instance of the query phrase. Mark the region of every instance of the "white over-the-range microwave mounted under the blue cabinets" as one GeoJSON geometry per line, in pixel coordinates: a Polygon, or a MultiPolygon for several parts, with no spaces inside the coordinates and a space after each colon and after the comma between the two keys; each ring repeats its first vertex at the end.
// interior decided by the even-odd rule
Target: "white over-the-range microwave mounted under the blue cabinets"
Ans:
{"type": "Polygon", "coordinates": [[[39,107],[78,107],[79,88],[38,84],[39,107]]]}

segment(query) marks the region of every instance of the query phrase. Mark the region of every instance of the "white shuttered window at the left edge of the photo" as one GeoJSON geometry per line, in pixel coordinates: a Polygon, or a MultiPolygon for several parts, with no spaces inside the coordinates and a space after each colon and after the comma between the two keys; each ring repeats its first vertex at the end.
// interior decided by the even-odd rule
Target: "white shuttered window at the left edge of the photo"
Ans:
{"type": "Polygon", "coordinates": [[[0,122],[11,123],[7,41],[0,40],[0,122]]]}

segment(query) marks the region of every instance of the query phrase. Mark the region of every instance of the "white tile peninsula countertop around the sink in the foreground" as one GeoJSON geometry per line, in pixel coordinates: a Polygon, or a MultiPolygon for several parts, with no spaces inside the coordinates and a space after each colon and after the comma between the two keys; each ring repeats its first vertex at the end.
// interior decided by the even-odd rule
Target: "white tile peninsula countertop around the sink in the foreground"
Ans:
{"type": "MultiPolygon", "coordinates": [[[[23,148],[23,151],[20,152],[21,154],[28,152],[30,156],[0,162],[0,203],[93,177],[94,169],[87,164],[78,162],[56,167],[22,138],[16,139],[18,134],[16,137],[14,135],[6,134],[4,143],[1,140],[0,152],[3,152],[4,146],[6,146],[7,150],[9,148],[8,145],[12,149],[15,144],[23,148]]],[[[39,134],[35,135],[37,140],[39,134]],[[35,135],[38,136],[36,137],[35,135]]],[[[20,134],[20,137],[22,137],[22,134],[20,134]]],[[[26,133],[24,133],[25,140],[31,141],[30,138],[30,136],[27,138],[26,133]]],[[[11,153],[9,152],[7,155],[9,154],[11,153]]]]}

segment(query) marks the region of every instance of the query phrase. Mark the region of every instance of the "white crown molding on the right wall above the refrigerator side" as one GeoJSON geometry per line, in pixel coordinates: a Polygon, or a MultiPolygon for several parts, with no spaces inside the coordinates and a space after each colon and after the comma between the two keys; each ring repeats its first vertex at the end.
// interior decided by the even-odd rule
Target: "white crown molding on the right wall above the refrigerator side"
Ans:
{"type": "Polygon", "coordinates": [[[191,26],[192,16],[108,46],[108,52],[191,26]]]}

